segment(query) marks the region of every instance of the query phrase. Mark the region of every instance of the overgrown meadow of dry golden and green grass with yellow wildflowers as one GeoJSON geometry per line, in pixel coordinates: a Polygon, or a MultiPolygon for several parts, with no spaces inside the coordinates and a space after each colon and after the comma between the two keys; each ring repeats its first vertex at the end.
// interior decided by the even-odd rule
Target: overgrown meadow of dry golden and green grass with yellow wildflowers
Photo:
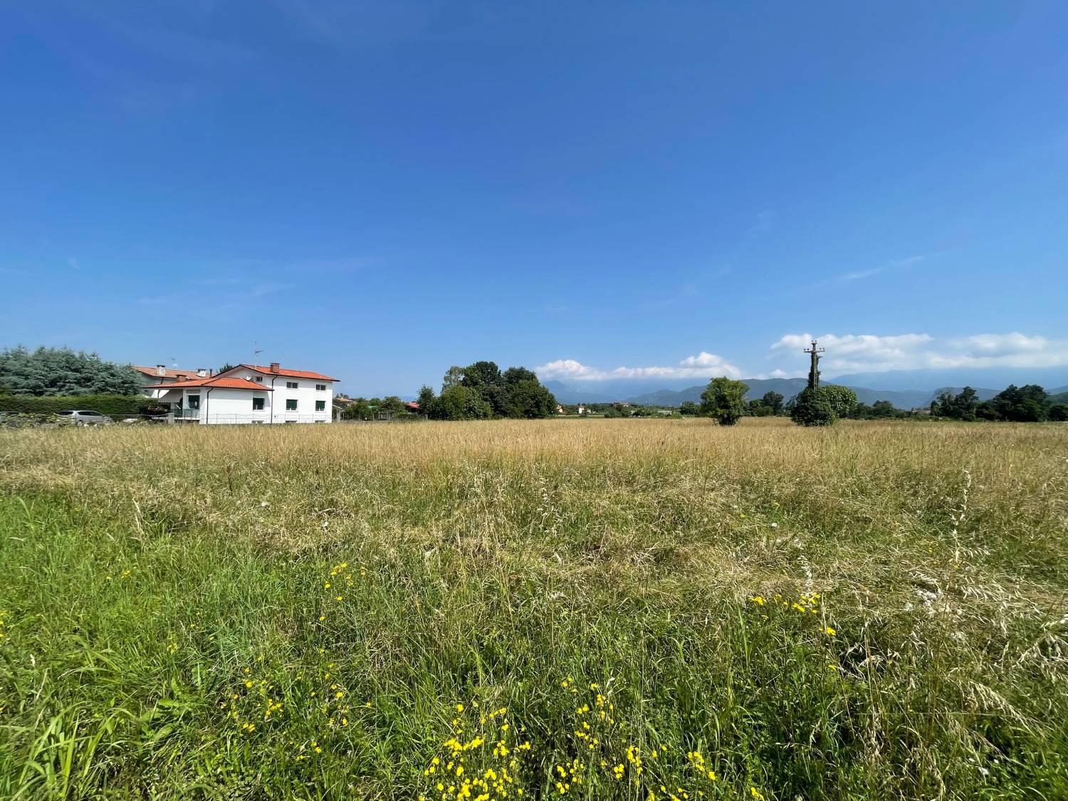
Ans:
{"type": "Polygon", "coordinates": [[[0,797],[1068,798],[1068,426],[0,431],[0,797]]]}

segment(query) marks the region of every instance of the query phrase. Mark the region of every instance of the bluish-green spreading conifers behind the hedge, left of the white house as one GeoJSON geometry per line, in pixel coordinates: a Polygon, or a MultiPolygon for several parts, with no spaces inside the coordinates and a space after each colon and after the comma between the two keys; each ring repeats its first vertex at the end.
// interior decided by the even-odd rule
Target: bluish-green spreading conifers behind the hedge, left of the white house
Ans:
{"type": "Polygon", "coordinates": [[[0,384],[15,395],[138,395],[140,374],[69,348],[0,351],[0,384]]]}

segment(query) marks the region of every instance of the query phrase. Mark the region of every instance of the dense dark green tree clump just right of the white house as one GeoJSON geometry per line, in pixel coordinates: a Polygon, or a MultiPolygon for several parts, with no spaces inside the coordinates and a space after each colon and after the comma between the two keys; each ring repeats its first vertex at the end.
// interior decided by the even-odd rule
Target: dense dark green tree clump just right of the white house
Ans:
{"type": "Polygon", "coordinates": [[[419,391],[419,410],[431,420],[536,419],[556,413],[556,398],[541,386],[533,371],[493,362],[450,367],[441,394],[430,387],[419,391]]]}

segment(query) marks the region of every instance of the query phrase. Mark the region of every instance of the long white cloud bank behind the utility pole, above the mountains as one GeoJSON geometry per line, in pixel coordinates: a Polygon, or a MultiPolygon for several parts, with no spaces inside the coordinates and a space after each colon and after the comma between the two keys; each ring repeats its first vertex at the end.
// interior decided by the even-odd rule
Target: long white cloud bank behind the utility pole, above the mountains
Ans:
{"type": "Polygon", "coordinates": [[[934,367],[1050,367],[1068,364],[1068,340],[1049,340],[1022,333],[974,334],[938,339],[926,333],[892,336],[874,334],[786,334],[772,350],[803,350],[818,339],[827,354],[824,372],[879,372],[934,367]]]}

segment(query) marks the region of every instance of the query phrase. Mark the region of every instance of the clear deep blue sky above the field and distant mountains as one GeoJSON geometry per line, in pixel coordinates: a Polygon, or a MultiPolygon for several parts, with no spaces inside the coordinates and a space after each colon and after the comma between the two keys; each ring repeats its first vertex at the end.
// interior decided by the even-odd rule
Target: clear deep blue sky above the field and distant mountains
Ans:
{"type": "Polygon", "coordinates": [[[545,377],[1068,364],[1068,5],[0,9],[0,346],[545,377]]]}

